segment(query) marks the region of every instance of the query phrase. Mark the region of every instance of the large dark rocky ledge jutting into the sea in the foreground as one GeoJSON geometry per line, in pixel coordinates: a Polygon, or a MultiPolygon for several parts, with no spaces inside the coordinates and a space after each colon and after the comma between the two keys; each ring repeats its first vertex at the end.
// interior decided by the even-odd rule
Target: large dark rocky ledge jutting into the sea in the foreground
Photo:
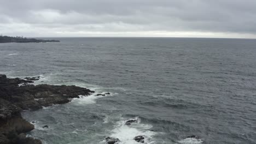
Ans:
{"type": "MultiPolygon", "coordinates": [[[[0,74],[0,143],[32,144],[40,140],[26,137],[34,125],[21,117],[22,110],[38,110],[53,104],[65,104],[79,95],[90,95],[94,91],[77,86],[26,85],[33,83],[26,79],[9,79],[0,74]],[[19,86],[20,84],[25,84],[19,86]]],[[[29,80],[30,79],[30,80],[29,80]]]]}

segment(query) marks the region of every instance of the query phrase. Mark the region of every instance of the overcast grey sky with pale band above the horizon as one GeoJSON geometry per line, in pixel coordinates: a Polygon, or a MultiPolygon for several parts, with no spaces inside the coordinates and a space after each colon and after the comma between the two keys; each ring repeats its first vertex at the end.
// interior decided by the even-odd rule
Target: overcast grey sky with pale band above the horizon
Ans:
{"type": "Polygon", "coordinates": [[[256,38],[255,0],[0,0],[0,34],[256,38]]]}

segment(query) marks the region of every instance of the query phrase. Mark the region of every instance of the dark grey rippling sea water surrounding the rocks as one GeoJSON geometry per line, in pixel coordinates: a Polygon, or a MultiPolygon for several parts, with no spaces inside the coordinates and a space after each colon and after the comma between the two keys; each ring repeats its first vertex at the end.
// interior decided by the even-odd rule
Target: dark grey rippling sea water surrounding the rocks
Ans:
{"type": "Polygon", "coordinates": [[[131,144],[137,135],[152,144],[256,143],[256,40],[60,40],[0,44],[0,73],[111,95],[27,111],[37,122],[29,135],[49,144],[104,143],[106,136],[131,144]],[[124,125],[129,118],[139,121],[124,125]]]}

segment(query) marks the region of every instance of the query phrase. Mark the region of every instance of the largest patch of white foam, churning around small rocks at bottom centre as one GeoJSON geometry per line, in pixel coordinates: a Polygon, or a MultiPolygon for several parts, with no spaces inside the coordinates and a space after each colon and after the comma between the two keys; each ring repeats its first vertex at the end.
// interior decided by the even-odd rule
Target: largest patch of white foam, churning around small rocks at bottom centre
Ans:
{"type": "Polygon", "coordinates": [[[141,124],[139,119],[136,124],[125,125],[126,121],[127,119],[117,122],[117,125],[115,125],[115,129],[112,130],[112,135],[110,135],[110,137],[119,139],[119,144],[138,144],[138,142],[133,139],[139,135],[144,135],[144,143],[154,142],[150,140],[152,139],[152,136],[155,135],[154,131],[149,131],[149,129],[152,128],[152,125],[141,124]]]}

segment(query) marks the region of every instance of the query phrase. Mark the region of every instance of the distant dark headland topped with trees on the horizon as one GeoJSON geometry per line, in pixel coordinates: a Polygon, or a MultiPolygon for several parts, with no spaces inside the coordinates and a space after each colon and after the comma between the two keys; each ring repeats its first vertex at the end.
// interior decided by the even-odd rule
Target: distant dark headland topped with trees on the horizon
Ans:
{"type": "Polygon", "coordinates": [[[60,40],[43,40],[24,37],[9,37],[0,35],[0,43],[46,43],[46,42],[60,42],[60,40]]]}

